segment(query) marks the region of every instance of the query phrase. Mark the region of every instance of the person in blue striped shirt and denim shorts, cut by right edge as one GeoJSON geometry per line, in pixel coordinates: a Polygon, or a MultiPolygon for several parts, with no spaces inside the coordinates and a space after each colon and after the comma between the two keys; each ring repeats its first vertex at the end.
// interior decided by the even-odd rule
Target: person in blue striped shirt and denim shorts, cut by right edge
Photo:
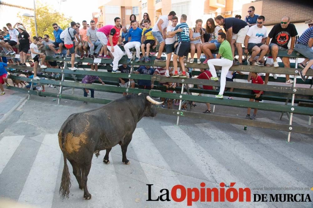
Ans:
{"type": "Polygon", "coordinates": [[[295,50],[300,54],[309,59],[309,62],[305,65],[305,68],[300,71],[299,75],[301,79],[305,81],[306,71],[313,65],[313,27],[309,27],[304,33],[298,38],[295,44],[295,50]]]}

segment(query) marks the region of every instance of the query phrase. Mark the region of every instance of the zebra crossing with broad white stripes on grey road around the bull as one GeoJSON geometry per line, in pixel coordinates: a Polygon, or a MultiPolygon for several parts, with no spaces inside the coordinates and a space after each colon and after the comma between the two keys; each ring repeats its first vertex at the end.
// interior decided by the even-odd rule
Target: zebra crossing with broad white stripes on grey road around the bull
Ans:
{"type": "MultiPolygon", "coordinates": [[[[63,157],[55,134],[27,138],[0,135],[0,199],[8,198],[36,207],[185,207],[182,202],[146,201],[148,186],[156,199],[178,184],[200,189],[249,187],[251,193],[311,195],[313,191],[254,191],[253,187],[312,187],[312,140],[285,143],[286,134],[236,124],[199,123],[190,126],[136,128],[127,150],[130,165],[121,162],[121,148],[110,152],[110,164],[102,162],[105,151],[92,159],[88,176],[91,200],[83,199],[72,174],[69,199],[59,197],[63,157]],[[227,127],[227,128],[225,128],[227,127]],[[253,129],[253,130],[252,130],[253,129]],[[158,132],[157,135],[155,132],[158,132]],[[237,134],[235,139],[233,133],[237,134]],[[238,137],[239,135],[239,137],[238,137]],[[27,148],[23,146],[27,145],[27,148]],[[30,149],[33,146],[32,149],[30,149]],[[29,166],[24,167],[23,166],[29,166]],[[20,166],[20,168],[18,167],[20,166]],[[17,171],[19,170],[19,171],[17,171]]],[[[300,135],[300,134],[299,134],[300,135]]],[[[299,136],[300,137],[300,136],[299,136]]],[[[171,194],[170,194],[171,199],[171,194]]],[[[181,197],[181,192],[177,192],[181,197]]],[[[245,196],[246,197],[246,196],[245,196]]],[[[253,198],[252,198],[253,200],[253,198]]],[[[312,207],[312,202],[193,202],[192,207],[312,207]]]]}

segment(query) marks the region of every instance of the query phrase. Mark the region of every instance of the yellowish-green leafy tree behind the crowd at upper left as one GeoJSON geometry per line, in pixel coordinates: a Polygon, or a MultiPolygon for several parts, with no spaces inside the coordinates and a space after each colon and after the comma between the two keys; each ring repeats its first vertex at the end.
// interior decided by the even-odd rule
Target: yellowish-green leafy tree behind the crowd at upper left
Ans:
{"type": "MultiPolygon", "coordinates": [[[[25,25],[27,31],[31,32],[31,34],[35,36],[36,32],[34,17],[24,17],[21,15],[18,15],[18,17],[21,19],[21,23],[25,25]]],[[[69,27],[71,17],[64,17],[63,13],[59,13],[47,5],[36,2],[36,21],[38,36],[43,37],[44,35],[49,35],[50,39],[54,41],[54,29],[52,24],[57,23],[61,29],[65,29],[69,27]]]]}

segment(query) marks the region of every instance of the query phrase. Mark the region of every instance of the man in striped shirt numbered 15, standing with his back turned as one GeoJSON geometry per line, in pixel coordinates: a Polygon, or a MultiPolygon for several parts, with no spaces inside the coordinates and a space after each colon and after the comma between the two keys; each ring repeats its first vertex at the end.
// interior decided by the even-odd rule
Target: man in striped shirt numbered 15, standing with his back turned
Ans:
{"type": "Polygon", "coordinates": [[[184,63],[184,56],[187,56],[190,51],[190,38],[189,38],[189,27],[186,24],[187,15],[182,14],[180,17],[180,24],[176,26],[175,31],[168,32],[169,35],[177,33],[178,37],[178,46],[175,48],[175,52],[173,55],[173,65],[175,69],[174,75],[172,77],[180,77],[186,78],[186,71],[185,71],[185,63],[184,63]],[[179,58],[178,58],[179,57],[179,58]],[[177,71],[177,58],[179,59],[179,63],[182,69],[182,75],[178,75],[177,71]]]}

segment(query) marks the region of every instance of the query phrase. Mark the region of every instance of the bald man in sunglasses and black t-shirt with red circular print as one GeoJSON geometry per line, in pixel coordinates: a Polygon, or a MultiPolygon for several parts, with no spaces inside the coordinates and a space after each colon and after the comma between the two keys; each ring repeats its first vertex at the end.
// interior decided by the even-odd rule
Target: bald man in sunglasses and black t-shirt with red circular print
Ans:
{"type": "MultiPolygon", "coordinates": [[[[269,35],[266,39],[266,45],[269,46],[269,52],[271,52],[274,60],[274,67],[279,67],[277,63],[278,50],[287,51],[287,54],[290,55],[294,50],[295,45],[295,36],[298,35],[298,32],[294,24],[290,23],[290,18],[285,16],[281,19],[281,22],[275,25],[272,30],[269,32],[269,35]],[[270,39],[272,40],[270,41],[270,39]],[[291,39],[290,49],[288,49],[288,43],[291,39]],[[269,42],[270,41],[270,42],[269,42]]],[[[284,63],[284,67],[290,68],[289,57],[282,57],[281,60],[284,63]]],[[[289,75],[286,75],[287,85],[292,84],[293,80],[289,79],[289,75]]]]}

